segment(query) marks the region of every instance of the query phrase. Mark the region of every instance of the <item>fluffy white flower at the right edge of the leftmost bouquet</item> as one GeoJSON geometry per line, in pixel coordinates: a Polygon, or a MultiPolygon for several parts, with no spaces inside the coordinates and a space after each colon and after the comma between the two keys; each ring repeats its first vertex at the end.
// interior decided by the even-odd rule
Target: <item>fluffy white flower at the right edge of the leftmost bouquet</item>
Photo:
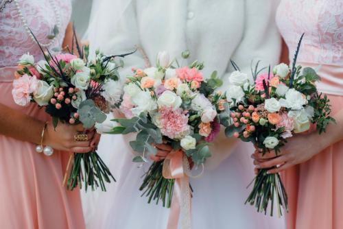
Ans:
{"type": "Polygon", "coordinates": [[[119,103],[121,94],[123,93],[123,86],[119,81],[107,80],[102,86],[102,96],[110,103],[115,105],[119,103]]]}

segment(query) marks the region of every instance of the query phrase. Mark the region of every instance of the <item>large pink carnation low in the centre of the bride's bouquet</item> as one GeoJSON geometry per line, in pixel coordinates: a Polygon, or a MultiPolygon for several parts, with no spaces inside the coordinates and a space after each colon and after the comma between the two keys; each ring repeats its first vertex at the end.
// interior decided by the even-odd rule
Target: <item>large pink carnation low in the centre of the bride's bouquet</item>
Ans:
{"type": "Polygon", "coordinates": [[[161,133],[171,139],[182,138],[189,134],[188,117],[182,109],[163,107],[160,114],[161,133]]]}

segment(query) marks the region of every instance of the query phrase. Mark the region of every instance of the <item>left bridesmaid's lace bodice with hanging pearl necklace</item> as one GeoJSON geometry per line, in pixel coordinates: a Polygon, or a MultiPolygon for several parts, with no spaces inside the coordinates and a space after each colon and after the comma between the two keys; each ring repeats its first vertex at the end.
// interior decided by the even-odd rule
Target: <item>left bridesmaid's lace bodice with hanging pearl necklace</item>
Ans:
{"type": "MultiPolygon", "coordinates": [[[[25,31],[14,1],[5,0],[0,12],[0,68],[15,66],[23,53],[29,52],[36,58],[43,58],[38,45],[25,31]]],[[[4,2],[4,1],[3,1],[4,2]]],[[[50,0],[18,0],[27,25],[40,43],[49,43],[47,36],[56,25],[56,13],[50,0]]],[[[49,49],[61,47],[65,29],[71,16],[70,0],[54,0],[60,13],[60,32],[49,49]]]]}

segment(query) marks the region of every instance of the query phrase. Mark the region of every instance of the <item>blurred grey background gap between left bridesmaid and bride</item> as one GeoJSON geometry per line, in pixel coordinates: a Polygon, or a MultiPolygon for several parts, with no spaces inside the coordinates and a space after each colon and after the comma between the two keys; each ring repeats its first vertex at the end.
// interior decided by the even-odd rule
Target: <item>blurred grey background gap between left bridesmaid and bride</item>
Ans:
{"type": "Polygon", "coordinates": [[[73,0],[73,14],[71,21],[74,22],[79,36],[82,38],[86,32],[93,0],[73,0]]]}

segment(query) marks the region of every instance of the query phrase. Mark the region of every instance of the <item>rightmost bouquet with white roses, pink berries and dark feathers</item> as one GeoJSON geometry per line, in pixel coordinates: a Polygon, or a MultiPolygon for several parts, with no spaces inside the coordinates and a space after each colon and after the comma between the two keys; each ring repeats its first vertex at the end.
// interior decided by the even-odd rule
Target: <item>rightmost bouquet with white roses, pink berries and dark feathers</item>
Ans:
{"type": "MultiPolygon", "coordinates": [[[[287,138],[294,134],[309,130],[310,123],[316,124],[319,133],[324,132],[329,121],[334,121],[330,115],[329,99],[318,93],[315,82],[320,80],[316,71],[311,68],[296,67],[298,49],[294,57],[292,71],[287,64],[276,65],[268,74],[259,74],[258,62],[252,75],[255,84],[241,84],[239,97],[231,99],[230,117],[233,125],[226,128],[227,136],[235,136],[242,141],[252,142],[262,149],[261,154],[274,149],[276,154],[280,147],[287,143],[287,138]]],[[[240,73],[237,70],[230,77],[230,82],[237,81],[240,73]]],[[[240,76],[239,80],[244,80],[240,76]]],[[[230,88],[229,88],[230,91],[230,88]]],[[[271,215],[274,206],[274,195],[278,213],[281,206],[287,210],[287,193],[279,174],[268,174],[268,169],[260,169],[255,178],[255,184],[246,202],[255,204],[257,210],[266,213],[270,204],[271,215]]]]}

